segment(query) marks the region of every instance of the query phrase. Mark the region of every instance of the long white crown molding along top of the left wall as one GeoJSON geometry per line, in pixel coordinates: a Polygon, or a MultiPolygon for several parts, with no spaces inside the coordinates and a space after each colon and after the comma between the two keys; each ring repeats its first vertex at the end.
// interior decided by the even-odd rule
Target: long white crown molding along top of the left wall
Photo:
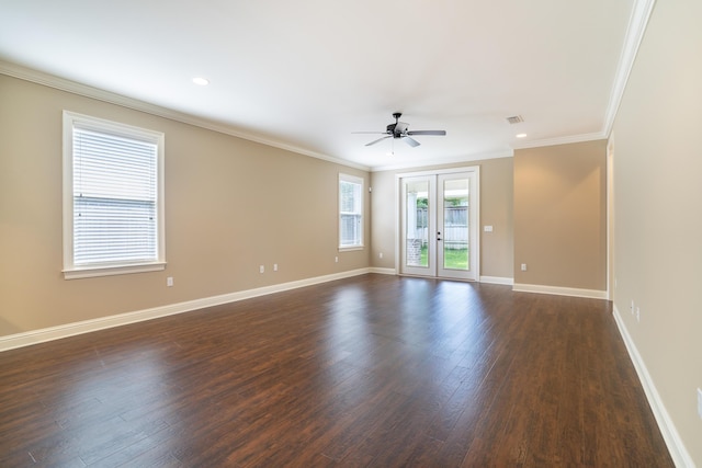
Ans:
{"type": "Polygon", "coordinates": [[[312,158],[321,159],[336,164],[346,165],[349,168],[360,169],[362,171],[370,171],[371,168],[363,164],[358,164],[332,156],[322,155],[319,152],[310,151],[304,148],[298,148],[293,145],[288,145],[274,139],[265,138],[260,135],[249,134],[241,132],[240,129],[226,124],[216,123],[205,118],[195,117],[193,115],[173,111],[171,109],[161,107],[156,104],[139,101],[134,98],[127,98],[122,94],[113,93],[110,91],[101,90],[98,88],[82,84],[77,81],[67,80],[65,78],[56,77],[54,75],[45,73],[43,71],[26,68],[16,64],[0,60],[0,75],[7,75],[9,77],[19,78],[24,81],[42,84],[48,88],[54,88],[59,91],[66,91],[72,94],[82,95],[84,98],[94,99],[98,101],[106,102],[110,104],[120,105],[122,107],[132,109],[134,111],[144,112],[146,114],[156,115],[158,117],[168,118],[171,121],[180,122],[183,124],[192,125],[195,127],[205,128],[208,130],[217,132],[220,134],[229,135],[233,137],[254,141],[261,145],[271,146],[273,148],[283,149],[285,151],[295,152],[298,155],[309,156],[312,158]]]}

